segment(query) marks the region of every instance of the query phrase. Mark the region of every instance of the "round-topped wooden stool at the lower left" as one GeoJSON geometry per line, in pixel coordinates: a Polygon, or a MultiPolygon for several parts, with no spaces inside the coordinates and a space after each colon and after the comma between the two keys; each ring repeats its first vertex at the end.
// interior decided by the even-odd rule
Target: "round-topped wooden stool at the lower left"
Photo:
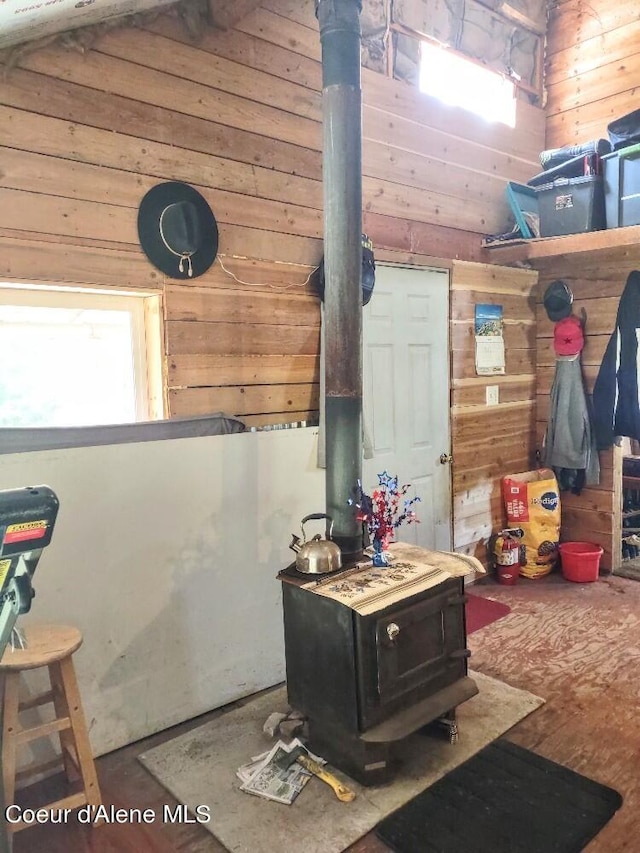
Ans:
{"type": "MultiPolygon", "coordinates": [[[[89,734],[82,710],[72,655],[82,644],[82,634],[77,628],[61,625],[33,625],[23,630],[27,648],[14,650],[8,646],[0,661],[0,675],[4,676],[4,704],[2,731],[2,774],[6,805],[14,803],[16,779],[24,779],[41,773],[59,763],[64,765],[67,779],[82,784],[75,794],[47,803],[43,808],[75,809],[84,805],[101,804],[100,787],[89,734]],[[40,696],[20,702],[20,673],[27,669],[46,666],[49,670],[51,689],[40,696]],[[20,712],[40,705],[53,704],[55,719],[32,728],[20,725],[20,712]],[[58,732],[61,756],[45,764],[34,762],[16,774],[16,758],[21,746],[29,741],[58,732]]],[[[9,824],[9,830],[25,829],[25,822],[9,824]]]]}

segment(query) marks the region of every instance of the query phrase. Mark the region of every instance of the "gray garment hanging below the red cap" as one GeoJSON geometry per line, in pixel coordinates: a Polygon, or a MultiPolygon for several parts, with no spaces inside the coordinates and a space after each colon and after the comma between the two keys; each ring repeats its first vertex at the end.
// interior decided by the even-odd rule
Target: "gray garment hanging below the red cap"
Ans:
{"type": "Polygon", "coordinates": [[[561,491],[580,494],[585,485],[600,482],[600,460],[579,356],[556,360],[543,455],[561,491]]]}

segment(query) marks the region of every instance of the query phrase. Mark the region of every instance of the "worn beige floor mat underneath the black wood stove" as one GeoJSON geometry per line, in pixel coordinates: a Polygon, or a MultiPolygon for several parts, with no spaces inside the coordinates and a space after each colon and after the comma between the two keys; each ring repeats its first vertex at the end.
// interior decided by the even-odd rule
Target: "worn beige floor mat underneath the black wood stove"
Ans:
{"type": "Polygon", "coordinates": [[[481,673],[469,674],[480,692],[458,708],[458,743],[436,733],[407,738],[392,784],[363,788],[347,780],[356,791],[352,803],[339,802],[319,779],[291,806],[239,790],[237,768],[273,743],[262,726],[271,712],[286,710],[284,687],[143,753],[140,761],[191,812],[208,806],[211,820],[203,826],[232,853],[339,853],[544,702],[481,673]]]}

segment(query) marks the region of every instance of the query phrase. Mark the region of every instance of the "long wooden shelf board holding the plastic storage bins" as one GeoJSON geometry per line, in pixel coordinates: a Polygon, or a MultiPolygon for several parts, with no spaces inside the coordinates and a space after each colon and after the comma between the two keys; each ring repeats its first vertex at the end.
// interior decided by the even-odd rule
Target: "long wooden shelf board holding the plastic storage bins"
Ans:
{"type": "MultiPolygon", "coordinates": [[[[491,263],[515,264],[535,262],[560,255],[579,255],[607,249],[640,246],[640,225],[627,228],[608,228],[587,234],[566,234],[563,237],[538,237],[484,246],[491,263]]],[[[535,263],[533,263],[535,266],[535,263]]]]}

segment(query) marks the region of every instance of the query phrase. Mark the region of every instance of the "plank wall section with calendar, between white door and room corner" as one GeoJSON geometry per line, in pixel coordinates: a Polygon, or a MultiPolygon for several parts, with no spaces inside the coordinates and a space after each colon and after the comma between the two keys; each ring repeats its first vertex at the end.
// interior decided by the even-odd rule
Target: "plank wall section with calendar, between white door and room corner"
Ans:
{"type": "Polygon", "coordinates": [[[451,292],[451,434],[454,548],[486,560],[491,534],[506,524],[500,485],[535,467],[537,273],[454,262],[451,292]],[[506,373],[476,376],[477,304],[502,305],[506,373]],[[486,405],[497,385],[499,404],[486,405]]]}

